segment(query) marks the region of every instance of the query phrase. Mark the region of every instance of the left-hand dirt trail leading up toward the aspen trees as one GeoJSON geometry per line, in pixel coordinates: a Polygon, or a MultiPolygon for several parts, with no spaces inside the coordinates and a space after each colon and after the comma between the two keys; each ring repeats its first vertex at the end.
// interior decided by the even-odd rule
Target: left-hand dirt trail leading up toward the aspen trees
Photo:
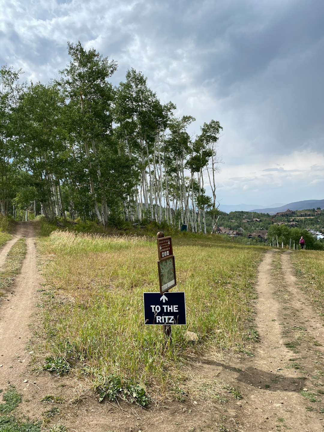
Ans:
{"type": "Polygon", "coordinates": [[[6,256],[10,245],[21,237],[26,239],[26,257],[21,273],[13,284],[13,295],[0,308],[0,388],[8,388],[8,384],[13,384],[22,391],[22,411],[35,419],[40,414],[37,408],[40,394],[47,394],[54,383],[51,377],[36,378],[28,370],[32,355],[28,348],[32,337],[29,324],[36,311],[39,288],[32,222],[17,223],[15,238],[2,249],[0,259],[3,259],[3,255],[6,256]]]}

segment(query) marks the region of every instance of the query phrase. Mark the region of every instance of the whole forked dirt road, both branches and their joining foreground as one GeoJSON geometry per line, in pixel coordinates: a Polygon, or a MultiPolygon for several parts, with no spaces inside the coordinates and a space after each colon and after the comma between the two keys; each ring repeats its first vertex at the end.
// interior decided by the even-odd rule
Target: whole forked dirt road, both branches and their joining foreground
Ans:
{"type": "MultiPolygon", "coordinates": [[[[188,398],[184,403],[165,401],[154,410],[124,405],[121,409],[108,403],[99,405],[91,392],[78,394],[69,378],[54,378],[41,370],[31,372],[29,323],[37,320],[35,303],[40,286],[32,223],[19,224],[14,239],[0,251],[0,265],[21,236],[26,238],[27,254],[13,295],[8,294],[9,302],[3,300],[0,307],[0,388],[10,383],[23,393],[16,414],[42,419],[41,397],[61,394],[67,401],[61,421],[77,432],[324,430],[324,321],[299,289],[289,253],[267,251],[260,264],[254,303],[259,342],[254,345],[254,356],[229,356],[213,350],[196,359],[191,368],[195,379],[227,383],[241,393],[241,400],[229,397],[228,403],[220,404],[188,398]],[[80,397],[72,405],[68,401],[73,395],[80,397]]],[[[52,419],[57,421],[58,416],[52,419]]]]}

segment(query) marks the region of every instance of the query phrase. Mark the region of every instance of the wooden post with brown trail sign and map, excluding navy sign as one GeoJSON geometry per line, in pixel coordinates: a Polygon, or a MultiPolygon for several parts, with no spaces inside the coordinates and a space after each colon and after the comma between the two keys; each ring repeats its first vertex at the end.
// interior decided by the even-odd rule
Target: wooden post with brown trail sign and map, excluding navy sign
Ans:
{"type": "MultiPolygon", "coordinates": [[[[175,257],[172,249],[172,238],[164,237],[164,233],[159,231],[156,235],[158,244],[158,269],[160,292],[163,295],[169,289],[177,285],[175,275],[175,257]]],[[[171,339],[171,325],[163,325],[163,333],[165,337],[171,339]]]]}

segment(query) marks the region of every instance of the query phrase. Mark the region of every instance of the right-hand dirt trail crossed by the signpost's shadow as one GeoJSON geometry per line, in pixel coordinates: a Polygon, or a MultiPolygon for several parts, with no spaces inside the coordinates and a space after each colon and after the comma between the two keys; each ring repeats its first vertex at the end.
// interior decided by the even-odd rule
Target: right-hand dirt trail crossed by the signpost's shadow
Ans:
{"type": "MultiPolygon", "coordinates": [[[[284,430],[283,427],[298,431],[323,431],[323,414],[306,410],[310,403],[299,393],[304,388],[316,392],[310,377],[317,369],[317,365],[310,364],[313,361],[308,354],[311,349],[304,347],[305,352],[302,356],[299,353],[296,358],[299,361],[304,359],[304,363],[309,363],[311,370],[305,373],[302,365],[302,370],[294,369],[291,366],[296,355],[291,349],[287,349],[285,343],[289,339],[284,337],[285,329],[300,328],[301,324],[306,323],[310,329],[306,329],[307,333],[314,334],[317,340],[324,344],[322,321],[297,288],[289,254],[281,254],[281,260],[283,283],[290,293],[290,298],[285,299],[285,302],[280,301],[272,276],[272,260],[277,253],[279,252],[268,251],[259,267],[255,311],[260,342],[255,346],[255,356],[241,361],[232,358],[225,365],[222,362],[214,362],[214,365],[219,366],[218,377],[224,381],[232,381],[232,385],[236,385],[243,395],[243,400],[237,403],[238,409],[232,413],[233,417],[239,420],[238,431],[284,430]],[[300,310],[295,309],[296,305],[300,310]],[[285,321],[285,311],[288,309],[294,312],[291,312],[292,322],[285,321]],[[298,325],[293,325],[296,323],[298,325]]],[[[316,346],[316,349],[323,350],[320,346],[316,346]]],[[[208,361],[206,363],[210,364],[208,361]]]]}

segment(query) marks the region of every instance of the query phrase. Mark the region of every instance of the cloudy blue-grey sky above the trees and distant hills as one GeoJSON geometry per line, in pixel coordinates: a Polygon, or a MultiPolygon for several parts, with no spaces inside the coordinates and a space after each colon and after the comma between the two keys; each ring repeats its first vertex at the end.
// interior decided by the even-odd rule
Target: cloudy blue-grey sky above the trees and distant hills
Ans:
{"type": "Polygon", "coordinates": [[[324,198],[324,1],[0,0],[0,65],[47,83],[67,41],[133,67],[177,114],[219,120],[222,204],[324,198]]]}

